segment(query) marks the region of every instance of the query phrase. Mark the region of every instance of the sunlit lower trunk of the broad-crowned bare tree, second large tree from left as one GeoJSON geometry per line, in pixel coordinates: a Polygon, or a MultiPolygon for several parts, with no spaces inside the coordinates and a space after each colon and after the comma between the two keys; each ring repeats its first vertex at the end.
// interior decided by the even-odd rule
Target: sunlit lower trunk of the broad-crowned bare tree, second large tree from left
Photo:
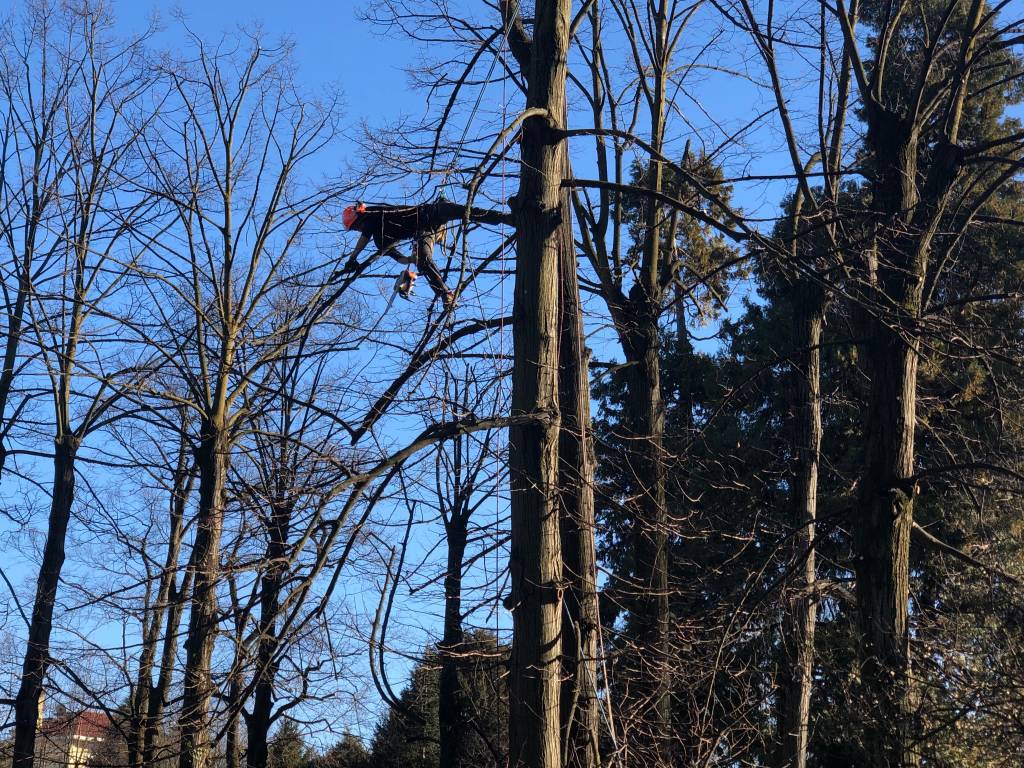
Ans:
{"type": "Polygon", "coordinates": [[[227,476],[228,440],[222,424],[204,421],[197,451],[199,509],[193,545],[194,586],[185,638],[185,669],[178,721],[181,753],[178,768],[208,768],[210,700],[213,682],[210,659],[217,629],[217,583],[220,535],[224,523],[223,494],[227,476]]]}

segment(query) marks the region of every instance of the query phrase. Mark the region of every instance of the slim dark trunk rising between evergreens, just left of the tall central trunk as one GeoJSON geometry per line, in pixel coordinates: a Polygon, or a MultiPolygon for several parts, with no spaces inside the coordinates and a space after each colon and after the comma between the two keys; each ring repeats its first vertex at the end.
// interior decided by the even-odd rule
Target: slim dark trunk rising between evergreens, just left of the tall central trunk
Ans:
{"type": "Polygon", "coordinates": [[[437,691],[440,768],[462,768],[465,754],[466,707],[459,670],[463,652],[462,568],[466,555],[466,522],[459,510],[452,510],[452,518],[445,526],[447,571],[444,573],[444,630],[437,691]]]}

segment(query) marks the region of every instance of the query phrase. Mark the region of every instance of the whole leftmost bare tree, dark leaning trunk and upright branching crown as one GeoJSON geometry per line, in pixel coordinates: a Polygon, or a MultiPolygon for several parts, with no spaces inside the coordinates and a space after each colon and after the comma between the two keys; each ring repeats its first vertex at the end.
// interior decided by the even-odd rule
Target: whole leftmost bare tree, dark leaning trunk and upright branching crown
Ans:
{"type": "MultiPolygon", "coordinates": [[[[76,462],[83,441],[117,418],[114,407],[124,387],[137,379],[139,366],[119,366],[103,338],[102,323],[130,274],[127,241],[146,219],[152,202],[126,179],[132,176],[139,132],[137,103],[150,87],[141,75],[140,41],[115,41],[112,19],[85,3],[61,10],[36,6],[27,29],[31,80],[47,81],[47,66],[57,72],[58,101],[44,99],[47,138],[36,148],[37,165],[60,165],[55,188],[34,193],[38,215],[45,196],[59,196],[45,223],[30,224],[23,267],[35,270],[31,255],[46,243],[50,270],[33,273],[24,311],[39,355],[42,391],[51,398],[53,481],[46,542],[29,624],[22,681],[15,702],[13,764],[31,766],[39,720],[39,700],[50,657],[50,634],[65,543],[75,502],[76,462]],[[38,36],[38,37],[36,37],[38,36]],[[50,61],[50,65],[46,62],[50,61]],[[32,67],[39,66],[34,72],[32,67]],[[53,121],[52,124],[49,121],[53,121]],[[45,227],[39,230],[38,227],[45,227]],[[119,370],[120,369],[120,370],[119,370]]],[[[46,82],[43,91],[52,85],[46,82]]],[[[32,122],[30,122],[32,125],[32,122]]],[[[37,179],[38,183],[41,179],[37,179]]],[[[25,275],[28,279],[28,275],[25,275]]],[[[17,302],[15,302],[17,303],[17,302]]],[[[16,326],[23,318],[11,322],[16,326]]],[[[114,323],[118,322],[114,315],[114,323]]],[[[9,329],[13,330],[13,329],[9,329]]],[[[8,346],[8,350],[16,349],[8,346]]],[[[9,370],[9,369],[8,369],[9,370]]],[[[9,380],[8,380],[9,386],[9,380]]]]}

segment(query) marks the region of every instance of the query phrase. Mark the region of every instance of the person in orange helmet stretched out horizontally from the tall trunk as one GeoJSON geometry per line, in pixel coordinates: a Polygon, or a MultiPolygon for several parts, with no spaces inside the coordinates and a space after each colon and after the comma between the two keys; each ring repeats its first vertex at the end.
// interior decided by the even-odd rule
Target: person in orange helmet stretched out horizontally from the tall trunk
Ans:
{"type": "MultiPolygon", "coordinates": [[[[372,240],[378,255],[384,254],[399,264],[407,265],[395,281],[398,295],[403,299],[409,298],[419,276],[416,271],[419,268],[427,276],[434,293],[444,302],[444,306],[451,307],[455,301],[455,292],[445,285],[444,278],[434,262],[433,251],[434,245],[444,242],[446,224],[462,220],[465,214],[465,206],[443,199],[415,206],[368,206],[364,203],[350,205],[342,214],[342,222],[346,229],[359,232],[359,239],[348,256],[345,268],[359,270],[367,266],[359,264],[358,256],[372,240]],[[403,240],[413,241],[411,256],[406,256],[395,247],[403,240]]],[[[471,208],[469,219],[481,223],[501,223],[507,220],[507,214],[471,208]]]]}

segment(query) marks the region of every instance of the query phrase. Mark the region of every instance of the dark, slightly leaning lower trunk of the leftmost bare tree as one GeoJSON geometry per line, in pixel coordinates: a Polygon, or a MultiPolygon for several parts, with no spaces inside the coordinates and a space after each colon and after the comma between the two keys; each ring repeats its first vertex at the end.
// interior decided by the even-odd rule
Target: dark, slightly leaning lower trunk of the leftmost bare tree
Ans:
{"type": "Polygon", "coordinates": [[[53,496],[46,528],[43,560],[36,581],[36,599],[29,624],[29,640],[22,666],[22,682],[14,699],[14,746],[11,768],[32,768],[39,729],[39,700],[50,665],[50,633],[60,570],[65,562],[65,542],[75,501],[75,458],[80,441],[72,434],[53,444],[53,496]]]}

